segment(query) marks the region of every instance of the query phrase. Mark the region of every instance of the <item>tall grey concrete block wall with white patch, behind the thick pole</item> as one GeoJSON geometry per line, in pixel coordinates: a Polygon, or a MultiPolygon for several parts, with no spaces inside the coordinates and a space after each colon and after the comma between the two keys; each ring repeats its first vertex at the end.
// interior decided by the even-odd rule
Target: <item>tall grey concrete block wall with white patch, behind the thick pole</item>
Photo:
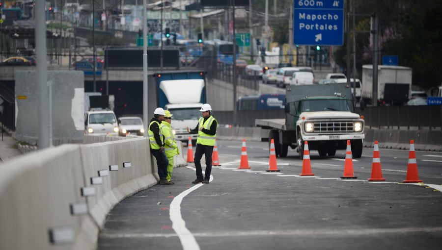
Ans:
{"type": "MultiPolygon", "coordinates": [[[[84,134],[84,77],[79,71],[48,71],[52,82],[53,139],[81,141],[84,134]]],[[[15,72],[17,140],[38,141],[38,84],[36,71],[15,72]],[[20,96],[21,98],[17,98],[20,96]],[[25,98],[26,97],[26,98],[25,98]]],[[[57,145],[56,143],[55,145],[57,145]]]]}

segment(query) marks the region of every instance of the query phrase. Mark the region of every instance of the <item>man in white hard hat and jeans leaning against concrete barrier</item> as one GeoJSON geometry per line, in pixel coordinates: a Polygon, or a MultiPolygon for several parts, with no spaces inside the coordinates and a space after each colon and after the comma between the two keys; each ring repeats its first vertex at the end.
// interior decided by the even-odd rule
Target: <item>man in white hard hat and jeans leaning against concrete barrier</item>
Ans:
{"type": "Polygon", "coordinates": [[[160,185],[174,184],[171,181],[167,181],[167,165],[169,160],[167,159],[165,152],[164,136],[160,129],[160,124],[164,121],[166,113],[163,108],[156,108],[154,111],[154,117],[150,120],[149,129],[147,131],[150,142],[150,152],[157,160],[158,176],[160,185]]]}

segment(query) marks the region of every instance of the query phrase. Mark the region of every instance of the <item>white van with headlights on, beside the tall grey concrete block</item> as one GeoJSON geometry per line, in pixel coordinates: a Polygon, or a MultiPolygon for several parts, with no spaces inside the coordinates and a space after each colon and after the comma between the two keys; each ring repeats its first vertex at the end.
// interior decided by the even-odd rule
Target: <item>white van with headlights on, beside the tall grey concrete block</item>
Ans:
{"type": "Polygon", "coordinates": [[[118,136],[118,124],[111,110],[91,110],[84,114],[84,134],[118,136]]]}

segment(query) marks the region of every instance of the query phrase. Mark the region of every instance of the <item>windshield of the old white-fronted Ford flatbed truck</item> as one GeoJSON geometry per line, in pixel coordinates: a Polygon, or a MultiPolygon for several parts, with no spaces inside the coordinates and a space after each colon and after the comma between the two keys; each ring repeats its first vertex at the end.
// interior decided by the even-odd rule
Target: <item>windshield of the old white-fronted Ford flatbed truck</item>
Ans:
{"type": "Polygon", "coordinates": [[[316,111],[350,111],[347,100],[303,100],[300,106],[301,112],[316,111]]]}

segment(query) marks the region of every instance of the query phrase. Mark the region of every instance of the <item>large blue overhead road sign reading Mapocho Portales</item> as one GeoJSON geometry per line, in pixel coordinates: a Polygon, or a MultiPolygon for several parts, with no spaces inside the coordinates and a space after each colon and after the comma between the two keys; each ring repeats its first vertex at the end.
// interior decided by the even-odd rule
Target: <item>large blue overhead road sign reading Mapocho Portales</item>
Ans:
{"type": "Polygon", "coordinates": [[[344,44],[344,0],[295,0],[295,45],[344,44]]]}

